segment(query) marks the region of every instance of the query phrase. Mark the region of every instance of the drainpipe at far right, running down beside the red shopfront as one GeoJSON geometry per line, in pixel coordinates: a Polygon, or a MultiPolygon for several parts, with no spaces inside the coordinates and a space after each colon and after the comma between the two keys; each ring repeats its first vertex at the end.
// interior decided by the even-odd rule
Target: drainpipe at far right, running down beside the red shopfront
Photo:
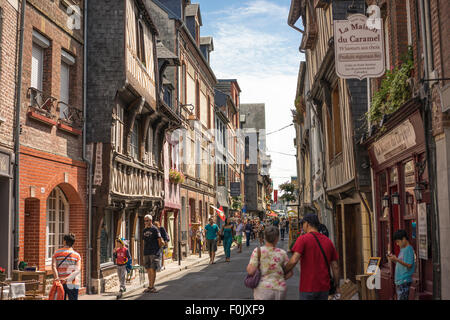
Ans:
{"type": "MultiPolygon", "coordinates": [[[[430,79],[430,59],[431,54],[431,26],[430,26],[430,10],[428,1],[420,0],[420,29],[422,34],[422,50],[424,56],[424,73],[425,79],[430,79]]],[[[423,79],[422,79],[423,80],[423,79]]],[[[436,145],[431,135],[432,119],[431,119],[431,91],[428,83],[422,82],[422,88],[425,91],[425,103],[422,109],[422,117],[425,127],[425,145],[428,163],[428,176],[431,192],[431,204],[430,210],[432,212],[431,221],[434,232],[431,234],[432,253],[433,253],[433,298],[439,300],[441,298],[441,266],[440,266],[440,248],[439,248],[439,212],[438,212],[438,200],[437,200],[437,184],[436,184],[436,145]]]]}

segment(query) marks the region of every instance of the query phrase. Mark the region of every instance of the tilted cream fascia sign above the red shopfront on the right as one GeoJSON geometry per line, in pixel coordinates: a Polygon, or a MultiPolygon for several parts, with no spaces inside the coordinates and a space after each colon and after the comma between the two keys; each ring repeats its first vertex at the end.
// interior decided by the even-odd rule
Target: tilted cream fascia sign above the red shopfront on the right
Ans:
{"type": "Polygon", "coordinates": [[[374,154],[383,163],[416,145],[416,133],[411,121],[406,120],[379,141],[375,142],[374,154]]]}

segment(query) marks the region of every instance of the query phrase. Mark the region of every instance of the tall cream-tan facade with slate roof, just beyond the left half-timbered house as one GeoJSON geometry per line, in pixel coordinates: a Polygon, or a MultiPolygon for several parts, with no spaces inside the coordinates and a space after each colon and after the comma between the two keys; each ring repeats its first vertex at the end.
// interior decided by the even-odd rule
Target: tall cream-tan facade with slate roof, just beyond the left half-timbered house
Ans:
{"type": "Polygon", "coordinates": [[[185,176],[181,184],[181,254],[194,249],[195,228],[204,225],[216,203],[214,179],[214,86],[209,65],[212,38],[201,37],[200,6],[186,0],[147,1],[161,30],[160,40],[180,60],[180,67],[166,72],[178,88],[183,130],[179,132],[179,159],[185,176]]]}

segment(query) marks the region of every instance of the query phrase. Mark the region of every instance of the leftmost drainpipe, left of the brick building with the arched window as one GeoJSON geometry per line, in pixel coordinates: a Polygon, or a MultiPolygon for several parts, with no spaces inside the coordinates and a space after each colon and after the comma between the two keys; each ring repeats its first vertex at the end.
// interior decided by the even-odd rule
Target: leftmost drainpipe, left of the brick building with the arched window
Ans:
{"type": "Polygon", "coordinates": [[[18,82],[17,82],[17,104],[16,104],[16,119],[15,119],[15,141],[14,141],[14,153],[15,153],[15,175],[14,175],[14,269],[18,269],[19,266],[19,212],[20,212],[20,175],[19,175],[19,153],[20,153],[20,110],[22,104],[22,69],[23,69],[23,38],[25,32],[25,9],[26,0],[22,0],[22,8],[20,15],[20,38],[19,38],[19,69],[18,69],[18,82]]]}

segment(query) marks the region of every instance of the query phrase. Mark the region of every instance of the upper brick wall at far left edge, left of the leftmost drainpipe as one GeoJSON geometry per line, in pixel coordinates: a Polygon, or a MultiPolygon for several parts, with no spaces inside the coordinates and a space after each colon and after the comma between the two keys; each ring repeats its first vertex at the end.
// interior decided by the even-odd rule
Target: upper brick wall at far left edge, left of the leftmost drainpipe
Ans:
{"type": "Polygon", "coordinates": [[[0,0],[0,8],[3,11],[3,34],[0,39],[0,117],[5,120],[5,123],[0,124],[0,146],[13,148],[18,13],[6,0],[0,0]]]}

